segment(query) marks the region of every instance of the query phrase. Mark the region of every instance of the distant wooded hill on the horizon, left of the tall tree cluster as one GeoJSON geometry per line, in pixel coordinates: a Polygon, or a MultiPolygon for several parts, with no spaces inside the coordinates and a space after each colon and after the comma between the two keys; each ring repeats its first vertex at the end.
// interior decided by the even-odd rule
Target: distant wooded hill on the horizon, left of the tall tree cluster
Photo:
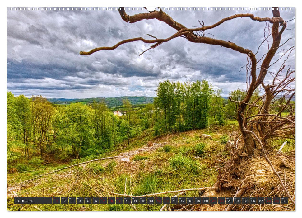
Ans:
{"type": "Polygon", "coordinates": [[[131,104],[147,104],[153,103],[154,97],[147,96],[122,96],[122,97],[97,97],[97,98],[48,98],[53,104],[70,104],[82,102],[84,104],[95,102],[105,102],[107,107],[114,108],[123,105],[123,99],[128,99],[131,104]]]}

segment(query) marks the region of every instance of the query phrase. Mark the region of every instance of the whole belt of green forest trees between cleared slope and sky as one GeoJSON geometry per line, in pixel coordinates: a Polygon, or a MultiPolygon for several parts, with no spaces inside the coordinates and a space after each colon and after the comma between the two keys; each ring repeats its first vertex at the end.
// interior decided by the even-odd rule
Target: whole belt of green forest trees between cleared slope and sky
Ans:
{"type": "MultiPolygon", "coordinates": [[[[109,109],[104,101],[60,105],[42,96],[16,97],[8,91],[8,165],[22,156],[28,160],[40,156],[43,161],[44,156],[51,155],[65,161],[103,154],[124,140],[129,144],[149,128],[154,136],[160,136],[203,129],[213,123],[223,126],[228,118],[225,114],[234,115],[237,106],[221,98],[221,93],[206,80],[165,80],[158,84],[153,104],[131,104],[122,99],[122,106],[109,109]],[[114,110],[124,115],[115,116],[114,110]]],[[[240,100],[244,90],[230,95],[240,100]]]]}

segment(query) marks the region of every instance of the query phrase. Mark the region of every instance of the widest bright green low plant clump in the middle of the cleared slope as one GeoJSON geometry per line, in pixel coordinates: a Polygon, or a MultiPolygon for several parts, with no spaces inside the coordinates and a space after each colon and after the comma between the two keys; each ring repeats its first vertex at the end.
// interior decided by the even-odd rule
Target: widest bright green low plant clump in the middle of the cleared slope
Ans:
{"type": "Polygon", "coordinates": [[[185,157],[181,154],[176,154],[174,157],[169,159],[170,166],[177,170],[183,170],[197,174],[200,170],[200,164],[191,158],[185,157]]]}

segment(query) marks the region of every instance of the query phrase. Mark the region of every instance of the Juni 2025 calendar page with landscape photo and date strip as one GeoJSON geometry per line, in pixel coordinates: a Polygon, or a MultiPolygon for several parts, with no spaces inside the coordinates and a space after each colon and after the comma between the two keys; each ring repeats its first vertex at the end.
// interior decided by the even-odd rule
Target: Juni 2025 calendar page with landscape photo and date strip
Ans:
{"type": "Polygon", "coordinates": [[[7,7],[7,210],[295,211],[295,8],[7,7]]]}

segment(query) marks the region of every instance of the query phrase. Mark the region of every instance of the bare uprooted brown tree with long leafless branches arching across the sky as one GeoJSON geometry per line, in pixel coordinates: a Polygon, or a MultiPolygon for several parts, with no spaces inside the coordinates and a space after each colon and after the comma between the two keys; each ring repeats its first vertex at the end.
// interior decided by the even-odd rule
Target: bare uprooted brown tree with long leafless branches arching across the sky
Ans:
{"type": "MultiPolygon", "coordinates": [[[[282,46],[290,39],[285,40],[281,44],[281,36],[286,30],[287,21],[280,17],[278,8],[272,8],[273,17],[256,17],[253,14],[235,14],[230,17],[225,17],[222,20],[210,26],[205,26],[204,22],[200,22],[200,27],[187,28],[181,23],[174,21],[168,14],[158,8],[153,12],[139,13],[135,15],[128,15],[125,8],[119,8],[121,18],[127,23],[135,23],[137,21],[156,19],[164,22],[170,27],[174,28],[176,32],[165,39],[158,39],[156,36],[147,34],[153,39],[145,39],[142,37],[126,39],[118,42],[112,47],[98,47],[90,51],[81,51],[80,55],[91,55],[100,50],[114,50],[118,46],[125,43],[142,41],[147,44],[152,44],[150,49],[155,49],[162,43],[173,40],[177,37],[183,37],[193,43],[204,43],[209,45],[219,45],[225,48],[230,48],[241,54],[247,55],[248,64],[246,64],[247,73],[247,90],[242,101],[235,101],[230,98],[230,101],[238,103],[237,116],[234,117],[239,124],[240,137],[243,140],[244,151],[246,156],[261,156],[263,155],[267,162],[270,164],[274,173],[278,176],[282,188],[289,196],[280,176],[274,169],[270,160],[266,155],[266,148],[268,147],[269,140],[275,137],[293,138],[295,135],[295,108],[291,101],[295,96],[295,89],[292,88],[295,82],[295,70],[291,69],[286,64],[290,53],[295,47],[283,49],[282,46]],[[231,21],[236,18],[250,18],[255,22],[265,22],[267,25],[264,29],[264,39],[258,47],[267,45],[267,52],[264,55],[258,55],[248,48],[236,45],[230,41],[219,40],[216,38],[207,37],[205,31],[214,29],[221,24],[231,21]],[[277,56],[278,55],[278,56],[277,56]],[[279,62],[280,67],[276,67],[279,62]],[[272,66],[275,67],[272,67],[272,66]],[[277,70],[272,70],[277,69],[277,70]],[[271,81],[270,84],[265,84],[264,79],[267,75],[271,81]],[[259,87],[264,89],[264,94],[258,99],[252,99],[253,93],[259,87]]],[[[140,55],[142,55],[143,51],[140,55]]],[[[294,202],[294,201],[293,201],[294,202]]]]}

